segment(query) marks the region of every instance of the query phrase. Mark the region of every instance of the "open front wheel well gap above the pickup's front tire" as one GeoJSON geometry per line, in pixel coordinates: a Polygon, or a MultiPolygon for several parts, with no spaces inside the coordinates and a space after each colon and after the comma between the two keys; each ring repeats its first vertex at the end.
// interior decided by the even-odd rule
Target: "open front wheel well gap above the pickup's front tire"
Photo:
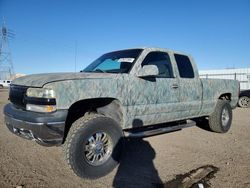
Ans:
{"type": "Polygon", "coordinates": [[[68,110],[65,122],[64,139],[67,137],[69,129],[74,121],[84,116],[86,113],[99,113],[123,124],[123,114],[121,103],[114,98],[95,98],[77,101],[68,110]]]}

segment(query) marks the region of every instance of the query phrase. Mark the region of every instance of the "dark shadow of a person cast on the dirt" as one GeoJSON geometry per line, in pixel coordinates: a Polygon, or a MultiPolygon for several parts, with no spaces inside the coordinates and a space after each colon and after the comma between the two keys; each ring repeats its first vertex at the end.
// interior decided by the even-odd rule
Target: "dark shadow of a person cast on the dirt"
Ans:
{"type": "Polygon", "coordinates": [[[113,180],[118,187],[162,187],[153,159],[155,151],[142,138],[125,139],[125,148],[113,180]]]}

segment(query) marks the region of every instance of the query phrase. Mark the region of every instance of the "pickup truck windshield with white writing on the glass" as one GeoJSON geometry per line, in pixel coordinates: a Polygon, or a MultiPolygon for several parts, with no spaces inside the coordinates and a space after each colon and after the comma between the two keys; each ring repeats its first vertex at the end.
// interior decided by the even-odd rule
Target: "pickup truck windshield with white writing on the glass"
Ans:
{"type": "Polygon", "coordinates": [[[102,55],[82,72],[128,73],[142,49],[122,50],[102,55]]]}

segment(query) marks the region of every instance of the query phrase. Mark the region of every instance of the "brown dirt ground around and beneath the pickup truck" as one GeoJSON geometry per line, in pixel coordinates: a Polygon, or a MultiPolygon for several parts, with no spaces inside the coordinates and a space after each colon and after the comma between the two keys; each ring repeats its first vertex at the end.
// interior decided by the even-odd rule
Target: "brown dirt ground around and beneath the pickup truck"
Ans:
{"type": "MultiPolygon", "coordinates": [[[[201,166],[218,168],[211,187],[250,187],[250,109],[233,111],[226,134],[191,127],[169,134],[130,140],[120,165],[97,180],[76,177],[61,147],[43,147],[10,133],[0,90],[0,187],[157,187],[201,166]]],[[[166,184],[168,187],[170,184],[166,184]]]]}

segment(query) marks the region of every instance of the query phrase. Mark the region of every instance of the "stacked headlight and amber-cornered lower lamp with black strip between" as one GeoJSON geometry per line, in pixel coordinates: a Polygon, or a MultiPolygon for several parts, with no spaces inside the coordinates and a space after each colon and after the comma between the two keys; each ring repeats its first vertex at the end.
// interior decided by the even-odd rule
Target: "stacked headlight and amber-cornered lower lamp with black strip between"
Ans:
{"type": "Polygon", "coordinates": [[[47,88],[28,88],[26,110],[33,112],[56,111],[55,91],[47,88]]]}

